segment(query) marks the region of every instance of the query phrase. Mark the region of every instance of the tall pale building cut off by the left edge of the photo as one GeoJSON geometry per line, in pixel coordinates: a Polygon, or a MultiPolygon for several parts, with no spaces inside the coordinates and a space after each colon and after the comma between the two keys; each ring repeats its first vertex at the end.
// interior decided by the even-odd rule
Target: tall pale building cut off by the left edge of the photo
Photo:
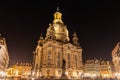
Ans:
{"type": "Polygon", "coordinates": [[[0,77],[5,73],[9,64],[9,55],[6,40],[0,35],[0,77]]]}

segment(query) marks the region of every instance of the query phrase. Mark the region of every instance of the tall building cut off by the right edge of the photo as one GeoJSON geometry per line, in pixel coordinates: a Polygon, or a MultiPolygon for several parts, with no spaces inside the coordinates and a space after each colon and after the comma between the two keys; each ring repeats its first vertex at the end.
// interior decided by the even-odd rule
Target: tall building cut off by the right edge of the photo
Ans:
{"type": "Polygon", "coordinates": [[[115,75],[120,79],[120,42],[112,50],[112,62],[115,67],[115,75]]]}

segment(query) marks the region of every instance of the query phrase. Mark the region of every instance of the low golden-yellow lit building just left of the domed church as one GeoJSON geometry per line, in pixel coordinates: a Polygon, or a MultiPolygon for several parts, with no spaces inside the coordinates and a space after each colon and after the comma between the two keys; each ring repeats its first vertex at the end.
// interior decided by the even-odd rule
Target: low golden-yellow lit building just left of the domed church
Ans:
{"type": "Polygon", "coordinates": [[[7,69],[7,77],[28,78],[31,75],[32,65],[30,63],[17,63],[7,69]]]}

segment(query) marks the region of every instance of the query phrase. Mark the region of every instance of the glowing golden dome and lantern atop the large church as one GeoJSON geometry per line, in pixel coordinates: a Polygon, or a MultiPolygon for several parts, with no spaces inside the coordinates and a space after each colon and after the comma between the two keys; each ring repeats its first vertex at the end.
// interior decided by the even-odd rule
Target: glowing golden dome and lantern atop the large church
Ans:
{"type": "MultiPolygon", "coordinates": [[[[57,9],[57,11],[54,13],[54,20],[51,24],[54,27],[54,35],[56,37],[56,40],[61,42],[69,42],[69,31],[67,29],[67,26],[64,25],[62,21],[62,13],[57,9]]],[[[47,29],[47,35],[50,34],[50,27],[47,29]]]]}

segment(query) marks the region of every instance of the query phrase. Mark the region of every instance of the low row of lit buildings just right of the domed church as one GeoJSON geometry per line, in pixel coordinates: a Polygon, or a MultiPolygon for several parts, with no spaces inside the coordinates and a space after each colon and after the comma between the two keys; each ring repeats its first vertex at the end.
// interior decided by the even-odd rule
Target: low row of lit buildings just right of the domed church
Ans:
{"type": "Polygon", "coordinates": [[[112,78],[114,67],[112,62],[106,60],[90,59],[85,62],[83,77],[112,78]]]}

